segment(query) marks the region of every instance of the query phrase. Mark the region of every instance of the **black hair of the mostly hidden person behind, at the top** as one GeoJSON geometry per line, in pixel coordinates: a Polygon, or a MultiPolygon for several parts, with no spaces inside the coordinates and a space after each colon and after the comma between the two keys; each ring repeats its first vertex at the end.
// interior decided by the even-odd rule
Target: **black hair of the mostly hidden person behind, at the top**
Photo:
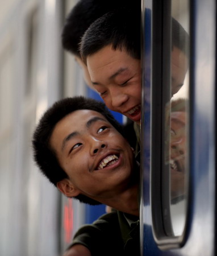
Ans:
{"type": "MultiPolygon", "coordinates": [[[[140,3],[140,0],[136,0],[140,3]]],[[[135,3],[133,3],[135,4],[135,3]]],[[[66,51],[80,56],[78,44],[84,32],[94,20],[98,19],[108,11],[118,9],[122,6],[131,6],[131,0],[80,0],[72,8],[65,19],[62,29],[62,46],[66,51]]]]}

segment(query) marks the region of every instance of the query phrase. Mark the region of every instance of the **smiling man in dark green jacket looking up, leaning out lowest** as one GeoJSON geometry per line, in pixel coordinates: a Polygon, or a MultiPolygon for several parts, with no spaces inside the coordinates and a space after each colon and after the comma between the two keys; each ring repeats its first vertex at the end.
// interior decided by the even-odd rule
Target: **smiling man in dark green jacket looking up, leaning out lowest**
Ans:
{"type": "Polygon", "coordinates": [[[78,230],[65,255],[140,255],[139,166],[102,102],[65,98],[45,112],[34,159],[65,196],[116,209],[78,230]]]}

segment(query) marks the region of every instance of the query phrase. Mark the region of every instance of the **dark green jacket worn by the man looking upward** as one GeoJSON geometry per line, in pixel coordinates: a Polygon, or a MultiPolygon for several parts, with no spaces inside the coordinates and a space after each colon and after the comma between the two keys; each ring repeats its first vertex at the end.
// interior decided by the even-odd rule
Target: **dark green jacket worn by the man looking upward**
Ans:
{"type": "MultiPolygon", "coordinates": [[[[76,243],[86,246],[92,256],[139,256],[139,218],[113,210],[93,224],[82,226],[74,236],[76,243]]],[[[72,246],[71,245],[71,246],[72,246]]]]}

